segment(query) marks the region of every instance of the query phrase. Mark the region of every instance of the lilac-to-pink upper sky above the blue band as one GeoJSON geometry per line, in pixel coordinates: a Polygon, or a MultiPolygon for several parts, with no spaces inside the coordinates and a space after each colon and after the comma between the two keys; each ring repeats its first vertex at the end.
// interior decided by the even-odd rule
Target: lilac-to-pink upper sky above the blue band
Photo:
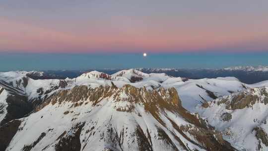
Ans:
{"type": "Polygon", "coordinates": [[[268,0],[1,0],[0,52],[268,51],[268,0]]]}

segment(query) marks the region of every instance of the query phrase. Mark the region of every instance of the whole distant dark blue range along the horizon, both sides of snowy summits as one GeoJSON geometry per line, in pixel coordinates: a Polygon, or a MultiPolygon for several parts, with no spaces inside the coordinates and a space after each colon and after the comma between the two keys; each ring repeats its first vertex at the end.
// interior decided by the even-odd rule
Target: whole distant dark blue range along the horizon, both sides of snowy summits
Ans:
{"type": "MultiPolygon", "coordinates": [[[[75,78],[85,72],[97,70],[109,75],[122,71],[124,69],[88,69],[88,70],[59,70],[59,71],[42,71],[38,73],[29,72],[28,76],[33,79],[65,79],[75,78]]],[[[180,68],[137,68],[137,71],[143,73],[165,73],[175,77],[186,77],[191,79],[200,78],[216,78],[225,76],[234,76],[240,81],[248,84],[257,83],[263,80],[268,80],[267,66],[239,66],[223,69],[180,69],[180,68]]]]}

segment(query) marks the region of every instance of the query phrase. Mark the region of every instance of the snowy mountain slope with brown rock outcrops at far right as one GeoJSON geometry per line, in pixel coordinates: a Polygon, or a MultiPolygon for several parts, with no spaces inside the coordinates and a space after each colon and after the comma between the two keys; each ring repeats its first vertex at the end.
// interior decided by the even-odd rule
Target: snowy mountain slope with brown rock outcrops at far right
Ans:
{"type": "Polygon", "coordinates": [[[268,151],[268,87],[249,88],[197,108],[209,124],[242,151],[268,151]]]}

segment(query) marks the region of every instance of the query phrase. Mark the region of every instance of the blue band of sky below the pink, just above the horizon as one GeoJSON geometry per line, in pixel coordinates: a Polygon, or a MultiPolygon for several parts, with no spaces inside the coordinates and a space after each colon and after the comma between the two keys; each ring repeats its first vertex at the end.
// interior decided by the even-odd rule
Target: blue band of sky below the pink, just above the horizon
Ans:
{"type": "Polygon", "coordinates": [[[268,52],[241,53],[1,53],[0,72],[130,68],[222,69],[268,66],[268,52]]]}

